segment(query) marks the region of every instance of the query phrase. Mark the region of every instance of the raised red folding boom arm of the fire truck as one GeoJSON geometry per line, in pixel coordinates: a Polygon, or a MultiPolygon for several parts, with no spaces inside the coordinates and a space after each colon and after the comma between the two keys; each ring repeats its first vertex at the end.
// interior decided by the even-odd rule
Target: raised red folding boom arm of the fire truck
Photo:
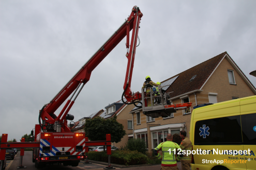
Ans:
{"type": "Polygon", "coordinates": [[[56,126],[61,126],[61,131],[70,131],[67,127],[66,117],[71,120],[72,115],[68,115],[69,110],[74,104],[77,96],[81,92],[84,85],[89,81],[92,71],[95,67],[111,52],[111,50],[126,36],[126,48],[128,59],[127,71],[124,84],[123,95],[130,104],[138,103],[141,99],[141,93],[132,94],[130,89],[133,63],[137,45],[137,37],[140,27],[140,20],[143,14],[139,7],[134,6],[129,18],[119,27],[113,35],[104,43],[97,52],[82,66],[82,68],[75,74],[70,81],[59,91],[49,104],[43,106],[39,113],[39,124],[43,131],[55,131],[56,126]],[[129,32],[132,30],[131,43],[129,44],[129,32]],[[129,52],[129,53],[128,53],[129,52]],[[73,93],[73,94],[72,94],[73,93]],[[72,94],[72,95],[71,95],[72,94]],[[67,100],[66,105],[58,116],[54,112],[67,100]],[[136,101],[135,101],[136,100],[136,101]],[[42,123],[41,123],[42,120],[42,123]]]}

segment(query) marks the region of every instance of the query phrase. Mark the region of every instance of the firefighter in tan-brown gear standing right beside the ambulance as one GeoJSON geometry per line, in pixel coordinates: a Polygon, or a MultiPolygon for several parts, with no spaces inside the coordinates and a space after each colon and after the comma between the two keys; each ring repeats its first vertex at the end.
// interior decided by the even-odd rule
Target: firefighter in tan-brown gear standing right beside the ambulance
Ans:
{"type": "MultiPolygon", "coordinates": [[[[190,153],[192,151],[192,143],[187,137],[187,132],[185,130],[182,130],[179,132],[180,138],[182,138],[182,143],[180,143],[180,148],[183,150],[190,150],[190,153]]],[[[187,153],[187,151],[186,151],[187,153]]],[[[182,170],[189,170],[190,164],[191,164],[191,157],[192,155],[184,155],[182,159],[180,159],[180,162],[182,163],[182,170]]]]}

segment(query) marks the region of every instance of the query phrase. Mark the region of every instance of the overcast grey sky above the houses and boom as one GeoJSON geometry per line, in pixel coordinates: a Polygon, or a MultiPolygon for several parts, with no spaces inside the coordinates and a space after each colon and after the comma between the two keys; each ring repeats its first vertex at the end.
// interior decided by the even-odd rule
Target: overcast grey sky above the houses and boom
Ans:
{"type": "MultiPolygon", "coordinates": [[[[0,135],[21,139],[39,110],[121,26],[143,17],[131,89],[163,81],[225,51],[256,85],[256,1],[0,1],[0,135]]],[[[123,93],[126,38],[92,72],[74,121],[123,93]]],[[[61,107],[62,108],[62,107],[61,107]]],[[[61,109],[55,114],[58,115],[61,109]]]]}

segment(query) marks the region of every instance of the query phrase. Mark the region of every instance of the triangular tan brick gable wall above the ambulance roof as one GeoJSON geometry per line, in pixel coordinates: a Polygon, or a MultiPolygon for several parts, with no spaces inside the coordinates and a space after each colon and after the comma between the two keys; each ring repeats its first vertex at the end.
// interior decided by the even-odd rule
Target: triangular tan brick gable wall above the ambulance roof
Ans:
{"type": "Polygon", "coordinates": [[[232,100],[232,97],[243,98],[255,95],[226,58],[222,60],[202,90],[199,94],[201,104],[208,100],[208,92],[218,93],[218,103],[232,100]],[[235,85],[229,83],[228,69],[234,71],[235,85]]]}

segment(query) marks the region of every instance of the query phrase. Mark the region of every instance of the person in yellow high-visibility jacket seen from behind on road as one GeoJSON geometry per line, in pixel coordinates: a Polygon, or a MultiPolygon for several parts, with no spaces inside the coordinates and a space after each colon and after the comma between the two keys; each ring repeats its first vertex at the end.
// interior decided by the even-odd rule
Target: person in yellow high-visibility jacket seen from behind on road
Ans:
{"type": "MultiPolygon", "coordinates": [[[[172,134],[167,134],[166,139],[166,142],[160,143],[155,148],[155,156],[158,157],[158,159],[162,159],[161,170],[178,170],[174,150],[180,149],[180,147],[178,144],[172,142],[172,134]],[[162,150],[162,155],[158,153],[159,150],[162,150]]],[[[178,155],[177,160],[182,157],[183,155],[178,155]]]]}

